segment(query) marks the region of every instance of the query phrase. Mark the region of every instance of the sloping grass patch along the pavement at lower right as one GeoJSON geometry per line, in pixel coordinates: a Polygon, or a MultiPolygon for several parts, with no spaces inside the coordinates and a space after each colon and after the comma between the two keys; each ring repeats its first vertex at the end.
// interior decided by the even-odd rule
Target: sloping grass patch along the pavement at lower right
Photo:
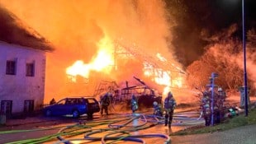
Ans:
{"type": "Polygon", "coordinates": [[[205,126],[195,126],[192,128],[187,128],[182,131],[173,132],[170,136],[180,136],[180,135],[189,135],[189,134],[199,134],[207,132],[220,132],[225,131],[231,128],[237,128],[244,125],[255,124],[256,123],[256,109],[249,111],[248,117],[245,117],[244,114],[240,114],[235,118],[227,118],[224,122],[217,124],[213,127],[205,126]]]}

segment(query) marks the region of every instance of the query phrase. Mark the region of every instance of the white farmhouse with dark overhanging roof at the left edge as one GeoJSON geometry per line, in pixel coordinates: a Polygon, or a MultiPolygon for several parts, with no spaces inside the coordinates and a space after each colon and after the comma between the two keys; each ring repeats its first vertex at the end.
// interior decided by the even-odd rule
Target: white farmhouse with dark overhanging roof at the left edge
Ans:
{"type": "Polygon", "coordinates": [[[0,7],[0,113],[40,109],[45,93],[46,40],[0,7]]]}

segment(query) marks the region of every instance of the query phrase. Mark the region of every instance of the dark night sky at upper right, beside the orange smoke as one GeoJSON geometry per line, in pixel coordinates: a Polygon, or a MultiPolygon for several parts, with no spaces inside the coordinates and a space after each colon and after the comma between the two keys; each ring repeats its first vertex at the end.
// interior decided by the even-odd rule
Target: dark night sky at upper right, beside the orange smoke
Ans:
{"type": "MultiPolygon", "coordinates": [[[[166,0],[168,12],[178,25],[173,26],[173,45],[184,66],[200,58],[209,44],[204,37],[216,35],[221,30],[237,24],[235,37],[242,39],[241,0],[166,0]]],[[[256,26],[256,1],[244,0],[245,29],[256,26]]]]}

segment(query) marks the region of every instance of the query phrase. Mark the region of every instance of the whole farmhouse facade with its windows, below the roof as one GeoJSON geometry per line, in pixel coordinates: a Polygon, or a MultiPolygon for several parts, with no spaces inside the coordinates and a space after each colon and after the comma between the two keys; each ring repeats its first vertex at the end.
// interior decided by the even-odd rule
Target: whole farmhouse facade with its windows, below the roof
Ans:
{"type": "Polygon", "coordinates": [[[0,41],[1,114],[31,113],[45,95],[44,50],[0,41]]]}

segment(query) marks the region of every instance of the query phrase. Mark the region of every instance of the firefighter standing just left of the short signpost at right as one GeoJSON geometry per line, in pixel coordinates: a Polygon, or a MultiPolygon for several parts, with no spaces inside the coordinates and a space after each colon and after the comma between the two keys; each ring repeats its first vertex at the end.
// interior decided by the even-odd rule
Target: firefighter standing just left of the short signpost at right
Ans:
{"type": "Polygon", "coordinates": [[[210,126],[211,124],[211,93],[205,91],[201,100],[201,110],[203,118],[205,119],[205,125],[210,126]]]}

